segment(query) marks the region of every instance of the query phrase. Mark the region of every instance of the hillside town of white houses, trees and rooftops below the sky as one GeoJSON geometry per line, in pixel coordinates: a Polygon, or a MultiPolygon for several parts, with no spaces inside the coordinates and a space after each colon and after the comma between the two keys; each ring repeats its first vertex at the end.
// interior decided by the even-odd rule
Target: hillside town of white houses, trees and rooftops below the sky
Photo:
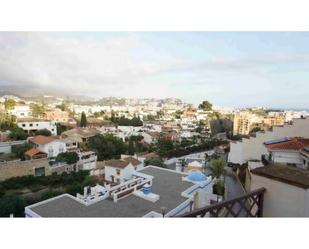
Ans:
{"type": "Polygon", "coordinates": [[[2,94],[0,130],[1,217],[309,216],[306,110],[2,94]]]}

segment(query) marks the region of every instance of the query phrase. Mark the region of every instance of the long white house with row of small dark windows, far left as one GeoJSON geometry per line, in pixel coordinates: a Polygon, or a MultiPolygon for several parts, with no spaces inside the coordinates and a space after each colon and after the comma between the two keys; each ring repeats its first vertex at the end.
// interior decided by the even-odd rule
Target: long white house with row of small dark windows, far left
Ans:
{"type": "Polygon", "coordinates": [[[17,125],[28,134],[34,134],[38,130],[46,129],[49,130],[52,135],[57,135],[57,126],[55,121],[34,118],[19,118],[17,119],[17,125]]]}

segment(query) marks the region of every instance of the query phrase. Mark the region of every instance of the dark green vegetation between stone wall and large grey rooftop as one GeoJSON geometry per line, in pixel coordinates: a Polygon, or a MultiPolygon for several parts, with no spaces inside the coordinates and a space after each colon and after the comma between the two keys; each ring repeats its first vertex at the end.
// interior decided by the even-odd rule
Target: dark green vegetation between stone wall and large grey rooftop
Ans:
{"type": "Polygon", "coordinates": [[[10,214],[14,214],[16,217],[23,217],[25,206],[65,192],[76,195],[77,193],[82,193],[85,186],[93,186],[95,183],[95,178],[90,176],[88,171],[50,176],[10,178],[0,182],[0,217],[9,217],[10,214]],[[34,193],[44,189],[46,191],[41,194],[34,193]],[[32,191],[32,197],[24,197],[22,194],[24,190],[32,191]]]}

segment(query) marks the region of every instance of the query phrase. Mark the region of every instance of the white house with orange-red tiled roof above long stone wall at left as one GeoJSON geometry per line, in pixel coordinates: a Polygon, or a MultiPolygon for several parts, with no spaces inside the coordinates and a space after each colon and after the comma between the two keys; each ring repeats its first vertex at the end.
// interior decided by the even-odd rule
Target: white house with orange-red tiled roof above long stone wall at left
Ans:
{"type": "Polygon", "coordinates": [[[27,151],[26,154],[35,156],[43,152],[48,158],[56,157],[59,153],[66,152],[66,142],[53,136],[35,136],[29,139],[29,143],[33,144],[33,149],[27,151]]]}

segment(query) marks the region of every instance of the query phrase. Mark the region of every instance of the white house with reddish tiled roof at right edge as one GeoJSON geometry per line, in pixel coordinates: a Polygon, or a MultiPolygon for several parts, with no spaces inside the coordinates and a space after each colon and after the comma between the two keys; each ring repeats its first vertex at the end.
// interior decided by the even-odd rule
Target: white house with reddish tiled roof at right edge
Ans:
{"type": "Polygon", "coordinates": [[[309,139],[280,138],[264,143],[268,154],[266,159],[271,163],[283,163],[296,167],[309,168],[309,139]]]}

